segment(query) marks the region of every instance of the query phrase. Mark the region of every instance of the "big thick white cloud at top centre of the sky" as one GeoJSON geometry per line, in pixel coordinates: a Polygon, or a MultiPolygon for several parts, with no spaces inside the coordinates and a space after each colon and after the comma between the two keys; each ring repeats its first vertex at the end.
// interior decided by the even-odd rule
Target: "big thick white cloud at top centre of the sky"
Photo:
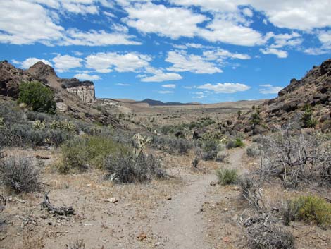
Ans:
{"type": "Polygon", "coordinates": [[[193,13],[185,8],[170,8],[161,4],[135,4],[125,8],[128,17],[127,25],[137,30],[177,39],[179,37],[194,37],[199,31],[198,24],[206,17],[193,13]]]}

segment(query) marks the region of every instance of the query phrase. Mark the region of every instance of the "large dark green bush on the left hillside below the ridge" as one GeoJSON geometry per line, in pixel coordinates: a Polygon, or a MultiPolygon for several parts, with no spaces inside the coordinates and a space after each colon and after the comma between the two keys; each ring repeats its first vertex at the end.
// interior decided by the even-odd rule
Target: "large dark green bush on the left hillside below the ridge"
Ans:
{"type": "Polygon", "coordinates": [[[56,113],[54,92],[39,82],[21,83],[18,104],[26,104],[32,111],[56,113]]]}

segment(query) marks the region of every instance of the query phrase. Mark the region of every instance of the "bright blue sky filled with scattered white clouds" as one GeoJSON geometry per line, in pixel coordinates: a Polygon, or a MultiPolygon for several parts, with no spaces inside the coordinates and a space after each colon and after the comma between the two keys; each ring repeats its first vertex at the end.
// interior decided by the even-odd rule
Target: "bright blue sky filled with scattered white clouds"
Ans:
{"type": "Polygon", "coordinates": [[[0,1],[0,60],[96,97],[268,99],[331,58],[331,0],[0,1]]]}

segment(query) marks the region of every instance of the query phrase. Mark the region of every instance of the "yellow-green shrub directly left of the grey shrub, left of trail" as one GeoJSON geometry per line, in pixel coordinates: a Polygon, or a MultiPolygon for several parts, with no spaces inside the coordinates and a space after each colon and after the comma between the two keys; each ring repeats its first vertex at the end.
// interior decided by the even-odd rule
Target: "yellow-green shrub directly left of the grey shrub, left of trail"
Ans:
{"type": "Polygon", "coordinates": [[[106,157],[120,150],[127,150],[127,147],[114,142],[110,137],[74,138],[61,146],[62,158],[58,170],[68,173],[71,169],[86,171],[89,166],[104,168],[106,157]]]}

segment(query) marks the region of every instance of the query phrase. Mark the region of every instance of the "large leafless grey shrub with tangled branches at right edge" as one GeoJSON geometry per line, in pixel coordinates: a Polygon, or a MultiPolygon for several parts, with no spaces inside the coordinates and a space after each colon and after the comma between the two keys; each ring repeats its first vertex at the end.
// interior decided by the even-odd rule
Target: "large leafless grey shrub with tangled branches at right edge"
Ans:
{"type": "Polygon", "coordinates": [[[263,144],[261,176],[282,179],[286,188],[299,183],[331,183],[331,146],[318,134],[291,133],[282,130],[266,138],[263,144]]]}

